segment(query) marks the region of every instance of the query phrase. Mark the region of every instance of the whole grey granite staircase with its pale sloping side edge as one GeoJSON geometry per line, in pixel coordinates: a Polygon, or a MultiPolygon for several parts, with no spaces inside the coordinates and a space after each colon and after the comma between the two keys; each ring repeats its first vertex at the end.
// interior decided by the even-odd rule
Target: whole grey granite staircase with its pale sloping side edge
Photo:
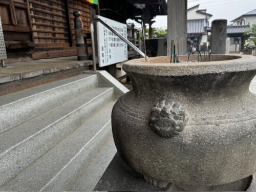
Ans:
{"type": "Polygon", "coordinates": [[[116,153],[111,112],[126,91],[102,71],[0,97],[0,191],[93,190],[116,153]]]}

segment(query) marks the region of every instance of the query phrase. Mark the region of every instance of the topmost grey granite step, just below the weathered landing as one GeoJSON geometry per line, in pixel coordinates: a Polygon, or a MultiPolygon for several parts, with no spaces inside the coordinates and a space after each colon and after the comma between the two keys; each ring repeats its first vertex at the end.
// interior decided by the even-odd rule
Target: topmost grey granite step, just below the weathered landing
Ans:
{"type": "Polygon", "coordinates": [[[82,74],[0,97],[0,133],[98,86],[95,74],[82,74]]]}

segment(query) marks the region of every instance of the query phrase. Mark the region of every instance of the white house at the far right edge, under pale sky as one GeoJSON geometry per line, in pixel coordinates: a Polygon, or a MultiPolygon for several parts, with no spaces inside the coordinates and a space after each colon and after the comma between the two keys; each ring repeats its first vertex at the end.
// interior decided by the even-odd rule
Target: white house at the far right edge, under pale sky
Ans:
{"type": "Polygon", "coordinates": [[[245,13],[236,19],[231,20],[231,22],[233,23],[233,26],[249,25],[250,27],[252,27],[253,24],[256,24],[256,9],[245,13]]]}

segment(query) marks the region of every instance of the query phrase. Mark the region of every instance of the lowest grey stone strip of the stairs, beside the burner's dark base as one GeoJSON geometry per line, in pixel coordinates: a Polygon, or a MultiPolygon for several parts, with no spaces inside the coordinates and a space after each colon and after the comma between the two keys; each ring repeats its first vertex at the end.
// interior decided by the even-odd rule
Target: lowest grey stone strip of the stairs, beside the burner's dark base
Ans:
{"type": "Polygon", "coordinates": [[[69,189],[70,191],[93,191],[106,168],[112,161],[117,150],[114,139],[111,138],[97,156],[92,165],[84,170],[84,173],[77,179],[69,189]]]}

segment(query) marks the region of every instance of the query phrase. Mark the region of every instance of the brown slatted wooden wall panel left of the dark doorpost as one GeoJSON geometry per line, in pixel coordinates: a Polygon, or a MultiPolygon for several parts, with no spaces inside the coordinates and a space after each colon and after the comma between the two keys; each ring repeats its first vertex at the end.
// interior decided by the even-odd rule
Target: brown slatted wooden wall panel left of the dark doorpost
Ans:
{"type": "Polygon", "coordinates": [[[29,7],[37,48],[70,46],[66,0],[29,0],[29,7]]]}

